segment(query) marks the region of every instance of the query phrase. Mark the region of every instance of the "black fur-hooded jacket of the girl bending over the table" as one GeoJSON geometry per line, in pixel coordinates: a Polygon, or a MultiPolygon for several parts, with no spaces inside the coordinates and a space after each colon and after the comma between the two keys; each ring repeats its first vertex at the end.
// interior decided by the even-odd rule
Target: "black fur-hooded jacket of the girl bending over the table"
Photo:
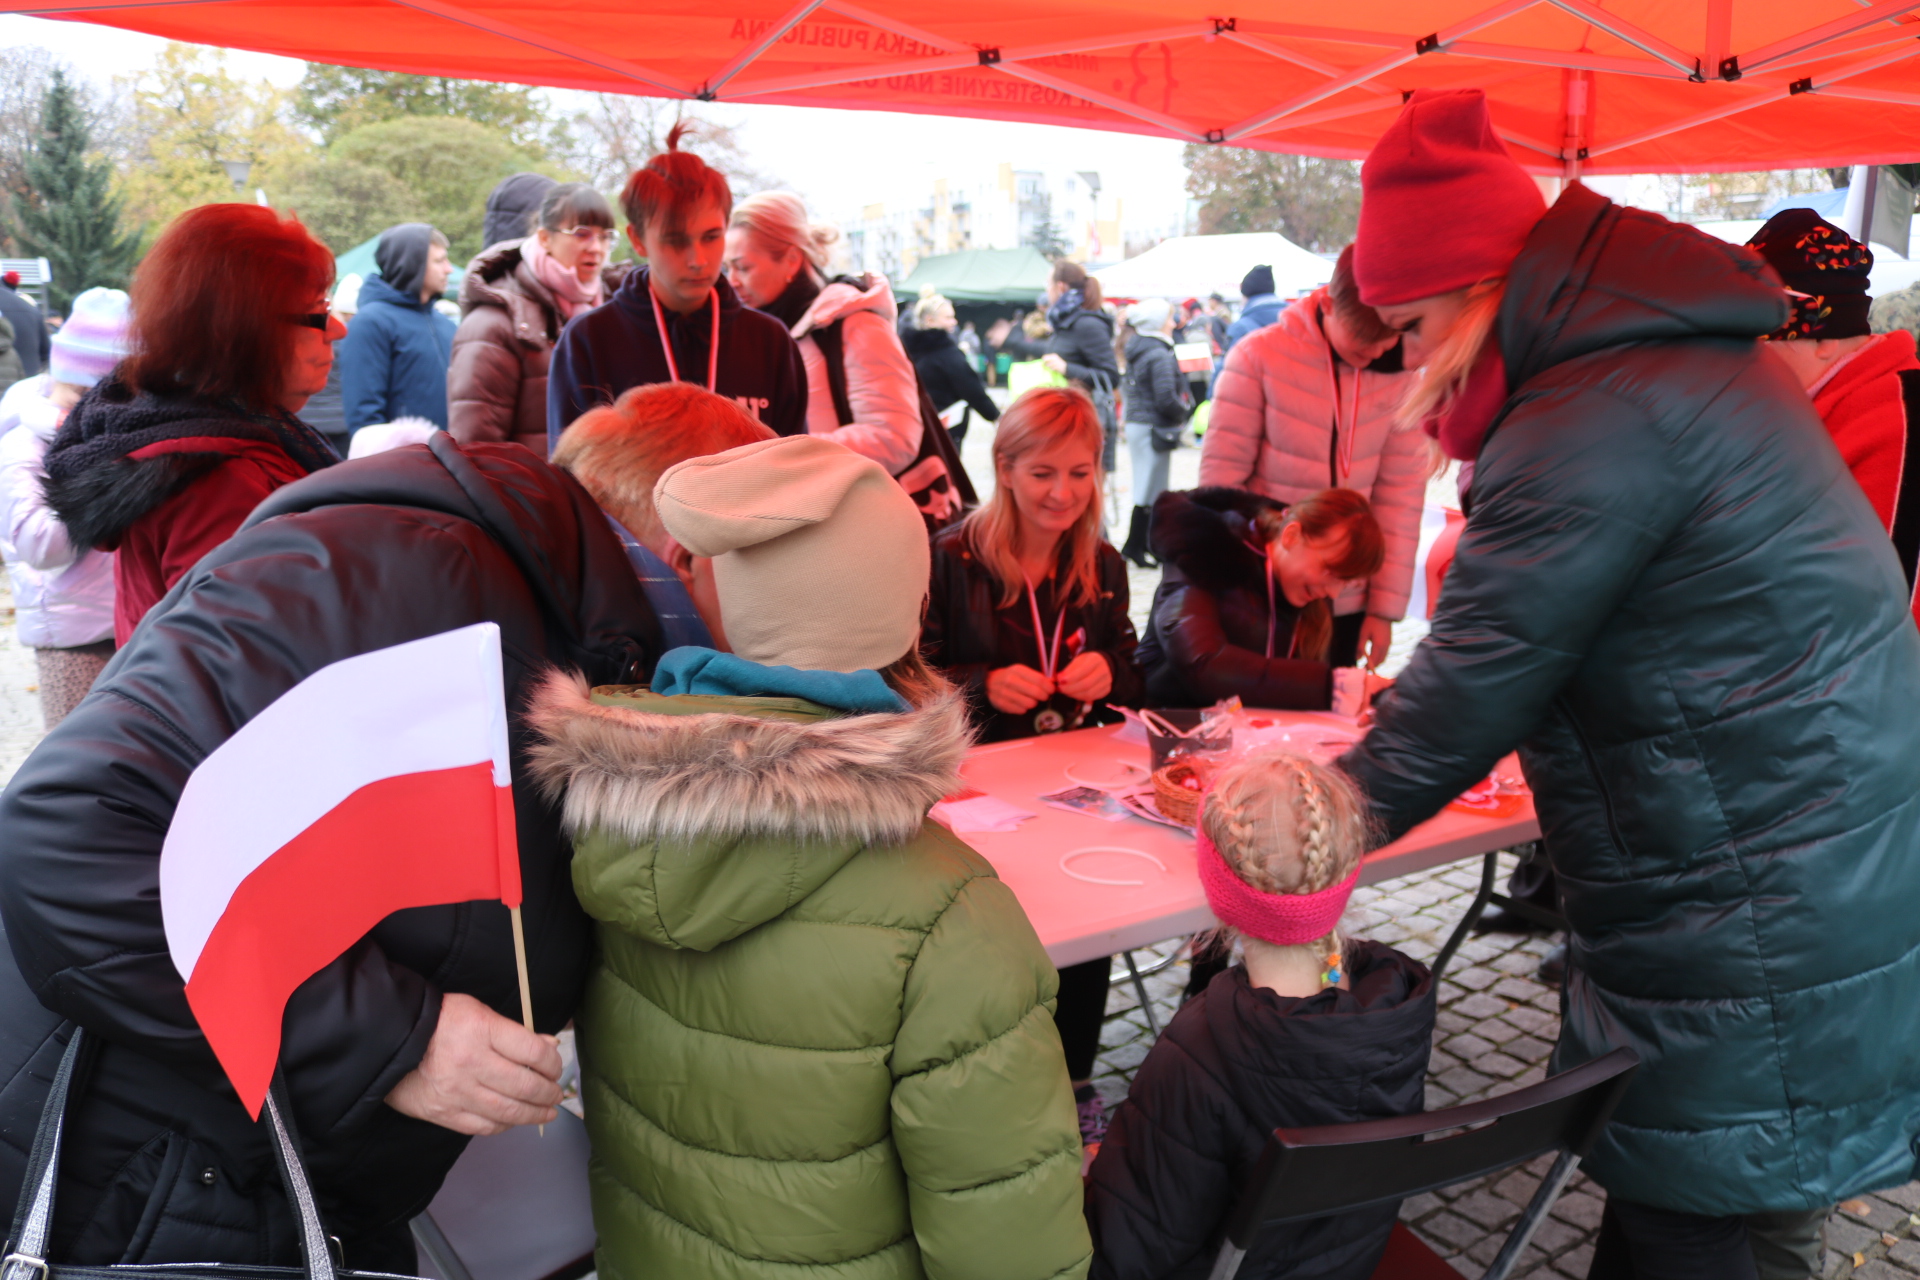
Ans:
{"type": "Polygon", "coordinates": [[[1212,706],[1235,695],[1273,710],[1332,704],[1332,666],[1286,656],[1300,610],[1267,585],[1254,518],[1269,509],[1286,503],[1219,486],[1154,501],[1148,545],[1162,574],[1140,641],[1148,706],[1212,706]]]}

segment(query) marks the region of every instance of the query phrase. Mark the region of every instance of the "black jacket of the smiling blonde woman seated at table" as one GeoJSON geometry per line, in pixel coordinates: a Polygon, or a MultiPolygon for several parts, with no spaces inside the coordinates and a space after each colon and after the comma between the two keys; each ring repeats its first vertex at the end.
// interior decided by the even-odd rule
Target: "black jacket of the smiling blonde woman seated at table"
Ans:
{"type": "MultiPolygon", "coordinates": [[[[1098,652],[1114,670],[1114,689],[1094,702],[1081,718],[1079,702],[1054,695],[1046,708],[1060,712],[1064,727],[1075,729],[1098,723],[1117,723],[1114,706],[1140,704],[1140,668],[1135,658],[1139,641],[1127,616],[1127,562],[1104,541],[1100,543],[1100,599],[1091,606],[1069,604],[1062,624],[1060,666],[1079,652],[1098,652]],[[1079,649],[1073,637],[1083,635],[1079,649]]],[[[1039,583],[1041,624],[1052,645],[1058,604],[1054,597],[1060,576],[1039,583]]],[[[966,689],[968,714],[983,743],[1033,737],[1033,718],[1044,708],[1035,706],[1023,716],[1008,716],[987,700],[987,672],[1016,662],[1041,670],[1041,647],[1033,635],[1033,608],[1021,591],[1000,608],[1000,583],[987,572],[968,543],[966,526],[956,524],[933,539],[933,583],[927,591],[927,618],[920,629],[920,654],[929,666],[947,674],[966,689]]]]}

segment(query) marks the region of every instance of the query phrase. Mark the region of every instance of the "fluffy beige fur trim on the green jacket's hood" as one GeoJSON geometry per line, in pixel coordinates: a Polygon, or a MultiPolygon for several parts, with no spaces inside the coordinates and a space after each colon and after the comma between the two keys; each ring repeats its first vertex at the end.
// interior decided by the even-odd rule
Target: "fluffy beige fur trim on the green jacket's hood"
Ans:
{"type": "MultiPolygon", "coordinates": [[[[730,699],[730,704],[737,700],[730,699]]],[[[555,672],[526,714],[534,773],[568,831],[632,841],[783,835],[899,844],[960,789],[966,704],[791,722],[735,712],[662,716],[593,702],[555,672]]]]}

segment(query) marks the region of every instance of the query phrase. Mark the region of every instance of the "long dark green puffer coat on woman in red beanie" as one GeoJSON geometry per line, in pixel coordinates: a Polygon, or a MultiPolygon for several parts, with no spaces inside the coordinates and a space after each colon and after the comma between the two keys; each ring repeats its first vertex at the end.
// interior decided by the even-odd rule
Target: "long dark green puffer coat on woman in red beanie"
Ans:
{"type": "Polygon", "coordinates": [[[1432,635],[1344,762],[1394,837],[1519,745],[1553,1065],[1644,1059],[1588,1169],[1690,1213],[1908,1182],[1920,1132],[1920,631],[1784,317],[1745,249],[1553,205],[1432,635]]]}

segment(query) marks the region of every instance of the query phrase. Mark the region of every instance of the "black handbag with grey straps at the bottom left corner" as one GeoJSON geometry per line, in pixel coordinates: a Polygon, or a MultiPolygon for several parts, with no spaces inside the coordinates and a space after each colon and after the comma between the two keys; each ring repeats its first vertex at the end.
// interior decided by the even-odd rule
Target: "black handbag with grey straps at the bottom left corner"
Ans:
{"type": "Polygon", "coordinates": [[[305,1267],[255,1267],[252,1263],[154,1263],[113,1267],[61,1267],[46,1257],[54,1234],[54,1188],[60,1184],[60,1136],[67,1123],[67,1096],[75,1077],[83,1075],[84,1034],[73,1029],[67,1052],[54,1073],[54,1086],[40,1111],[40,1128],[33,1136],[27,1157],[27,1178],[19,1188],[19,1207],[13,1211],[13,1230],[8,1234],[6,1255],[0,1257],[0,1280],[417,1280],[392,1272],[346,1270],[334,1263],[321,1211],[300,1161],[300,1138],[292,1130],[286,1105],[286,1086],[275,1077],[261,1107],[261,1123],[273,1142],[280,1184],[300,1219],[300,1253],[305,1267]]]}

